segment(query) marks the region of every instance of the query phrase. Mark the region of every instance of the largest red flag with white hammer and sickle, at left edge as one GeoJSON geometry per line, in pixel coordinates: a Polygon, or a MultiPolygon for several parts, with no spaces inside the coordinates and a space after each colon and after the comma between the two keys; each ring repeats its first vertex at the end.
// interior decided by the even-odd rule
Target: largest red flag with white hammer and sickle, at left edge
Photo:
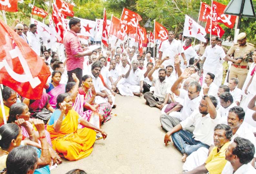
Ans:
{"type": "Polygon", "coordinates": [[[40,99],[51,74],[43,60],[14,30],[0,21],[0,83],[21,96],[40,99]]]}

